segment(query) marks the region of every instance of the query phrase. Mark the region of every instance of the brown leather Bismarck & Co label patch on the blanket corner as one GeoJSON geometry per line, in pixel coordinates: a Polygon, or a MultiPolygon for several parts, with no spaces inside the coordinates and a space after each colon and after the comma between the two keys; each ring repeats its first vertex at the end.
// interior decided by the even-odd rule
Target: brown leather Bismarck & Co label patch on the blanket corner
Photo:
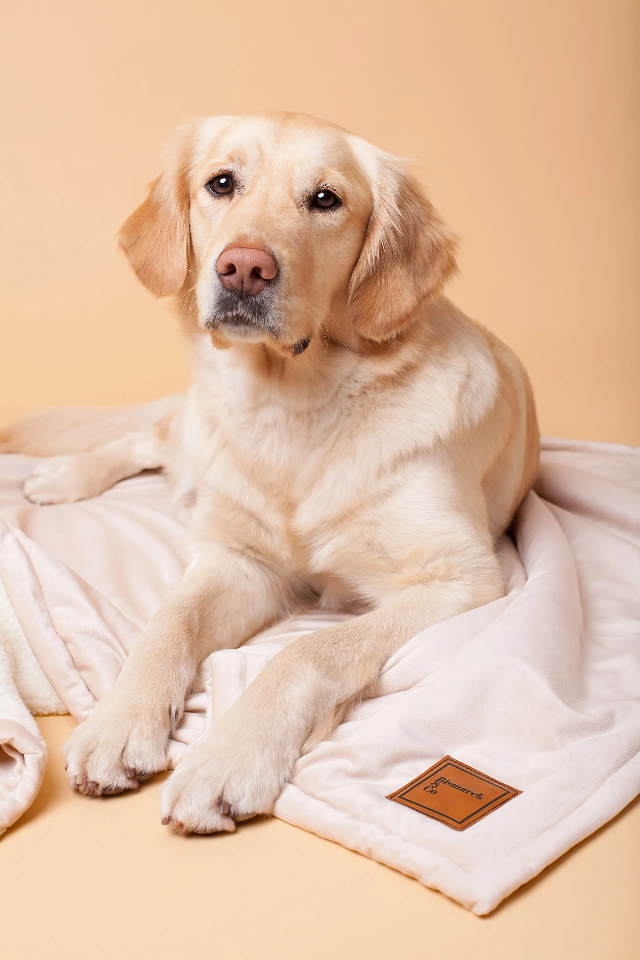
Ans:
{"type": "Polygon", "coordinates": [[[453,756],[443,756],[387,800],[411,806],[454,830],[465,830],[507,804],[522,790],[494,780],[453,756]]]}

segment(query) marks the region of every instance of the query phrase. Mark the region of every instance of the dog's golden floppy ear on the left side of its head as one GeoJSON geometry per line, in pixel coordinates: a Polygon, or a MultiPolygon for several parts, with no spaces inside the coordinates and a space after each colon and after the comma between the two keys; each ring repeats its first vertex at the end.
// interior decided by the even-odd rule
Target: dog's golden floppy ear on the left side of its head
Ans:
{"type": "Polygon", "coordinates": [[[196,127],[175,132],[163,172],[118,234],[136,276],[156,297],[178,293],[189,269],[189,168],[196,127]]]}

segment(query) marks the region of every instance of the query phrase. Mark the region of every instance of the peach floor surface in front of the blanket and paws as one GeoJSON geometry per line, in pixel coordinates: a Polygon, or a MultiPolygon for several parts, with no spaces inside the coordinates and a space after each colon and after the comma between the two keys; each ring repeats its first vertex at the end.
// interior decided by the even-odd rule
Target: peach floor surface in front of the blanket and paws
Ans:
{"type": "Polygon", "coordinates": [[[2,960],[637,960],[640,800],[488,917],[281,820],[178,837],[155,778],[66,785],[43,717],[36,803],[0,839],[2,960]]]}

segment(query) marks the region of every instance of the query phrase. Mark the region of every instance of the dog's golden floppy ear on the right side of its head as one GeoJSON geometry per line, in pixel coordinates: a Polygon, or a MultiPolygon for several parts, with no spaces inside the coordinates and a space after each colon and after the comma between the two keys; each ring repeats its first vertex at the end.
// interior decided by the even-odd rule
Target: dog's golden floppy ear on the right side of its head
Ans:
{"type": "Polygon", "coordinates": [[[400,160],[356,137],[352,145],[373,209],[349,282],[349,316],[361,336],[384,341],[439,293],[456,269],[456,240],[400,160]]]}

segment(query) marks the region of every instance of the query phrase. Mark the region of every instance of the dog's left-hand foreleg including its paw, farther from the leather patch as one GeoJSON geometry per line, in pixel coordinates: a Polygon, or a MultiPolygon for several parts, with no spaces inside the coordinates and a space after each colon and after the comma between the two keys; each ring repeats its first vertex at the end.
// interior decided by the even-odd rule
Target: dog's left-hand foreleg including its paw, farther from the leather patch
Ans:
{"type": "Polygon", "coordinates": [[[166,767],[201,661],[284,613],[286,581],[238,550],[201,544],[176,595],[155,614],[115,686],[69,740],[72,786],[98,796],[134,788],[166,767]]]}

